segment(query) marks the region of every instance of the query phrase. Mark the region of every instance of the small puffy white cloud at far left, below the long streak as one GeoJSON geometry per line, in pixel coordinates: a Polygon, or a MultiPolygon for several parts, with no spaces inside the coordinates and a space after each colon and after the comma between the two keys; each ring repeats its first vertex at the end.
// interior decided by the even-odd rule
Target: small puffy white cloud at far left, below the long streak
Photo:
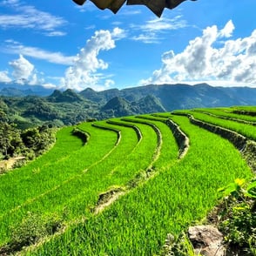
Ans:
{"type": "Polygon", "coordinates": [[[13,68],[12,77],[17,80],[29,79],[34,71],[34,65],[25,59],[22,55],[18,59],[11,61],[10,66],[13,68]]]}

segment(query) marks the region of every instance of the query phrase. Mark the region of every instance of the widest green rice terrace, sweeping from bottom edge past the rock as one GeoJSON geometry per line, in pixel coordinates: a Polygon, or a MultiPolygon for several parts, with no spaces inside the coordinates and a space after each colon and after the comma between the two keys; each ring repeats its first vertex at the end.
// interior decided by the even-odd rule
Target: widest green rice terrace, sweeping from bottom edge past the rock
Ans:
{"type": "Polygon", "coordinates": [[[166,158],[168,152],[177,151],[175,141],[167,135],[164,124],[155,121],[165,138],[154,164],[158,175],[34,253],[155,255],[161,250],[167,232],[179,233],[205,216],[216,204],[220,186],[237,177],[252,176],[239,152],[225,139],[190,124],[188,118],[172,119],[190,138],[185,158],[177,161],[177,153],[176,157],[166,158]]]}

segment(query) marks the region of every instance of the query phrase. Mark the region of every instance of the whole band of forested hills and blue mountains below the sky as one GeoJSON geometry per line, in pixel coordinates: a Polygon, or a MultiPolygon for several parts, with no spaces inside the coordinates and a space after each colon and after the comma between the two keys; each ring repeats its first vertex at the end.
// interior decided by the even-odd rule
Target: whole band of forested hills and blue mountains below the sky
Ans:
{"type": "Polygon", "coordinates": [[[25,129],[43,124],[74,125],[91,118],[199,107],[256,105],[256,88],[213,87],[209,84],[151,84],[124,90],[93,91],[87,88],[80,92],[51,90],[46,96],[46,91],[43,96],[40,91],[44,90],[38,86],[30,86],[30,89],[24,85],[20,85],[19,89],[17,86],[2,88],[0,120],[25,129]],[[34,88],[36,91],[33,91],[34,88]]]}

